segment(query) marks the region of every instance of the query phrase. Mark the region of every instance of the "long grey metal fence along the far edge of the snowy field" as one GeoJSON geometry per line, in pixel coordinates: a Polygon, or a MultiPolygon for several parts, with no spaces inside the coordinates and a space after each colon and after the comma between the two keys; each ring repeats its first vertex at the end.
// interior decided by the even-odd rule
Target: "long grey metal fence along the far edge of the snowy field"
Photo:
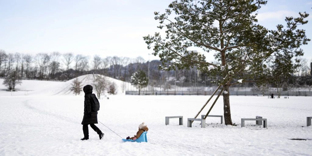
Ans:
{"type": "MultiPolygon", "coordinates": [[[[157,85],[149,85],[142,88],[140,95],[212,95],[217,89],[212,83],[205,84],[200,82],[158,82],[157,85]]],[[[126,95],[139,95],[139,90],[133,85],[125,88],[126,95]]],[[[270,87],[262,91],[256,91],[253,87],[231,86],[230,95],[277,95],[277,88],[270,87]]],[[[312,96],[312,86],[308,87],[292,87],[281,92],[283,96],[312,96]]]]}

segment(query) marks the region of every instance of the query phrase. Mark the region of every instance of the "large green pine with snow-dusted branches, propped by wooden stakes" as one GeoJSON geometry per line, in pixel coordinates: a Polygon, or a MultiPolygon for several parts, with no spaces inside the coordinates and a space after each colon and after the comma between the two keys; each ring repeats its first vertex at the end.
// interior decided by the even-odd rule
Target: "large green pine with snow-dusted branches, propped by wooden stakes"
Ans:
{"type": "MultiPolygon", "coordinates": [[[[180,0],[173,1],[164,13],[155,12],[158,28],[165,29],[144,37],[153,54],[159,55],[163,70],[197,66],[223,86],[225,124],[232,125],[229,87],[247,81],[261,83],[273,78],[267,63],[278,55],[302,56],[302,44],[310,41],[305,31],[309,15],[286,17],[286,27],[268,30],[257,24],[257,10],[265,0],[180,0]],[[215,52],[218,63],[206,61],[202,53],[189,51],[199,47],[215,52]]],[[[290,65],[291,68],[294,66],[290,65]]],[[[281,68],[285,69],[285,68],[281,68]]],[[[283,71],[276,73],[282,74],[283,71]]],[[[275,76],[276,76],[275,74],[275,76]]]]}

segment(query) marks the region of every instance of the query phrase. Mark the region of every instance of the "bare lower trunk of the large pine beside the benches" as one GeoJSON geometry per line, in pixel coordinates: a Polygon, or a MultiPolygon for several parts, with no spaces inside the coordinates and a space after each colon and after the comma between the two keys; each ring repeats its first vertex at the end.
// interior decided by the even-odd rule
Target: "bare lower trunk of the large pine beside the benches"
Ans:
{"type": "Polygon", "coordinates": [[[229,85],[223,85],[223,90],[224,92],[226,91],[227,94],[224,92],[222,93],[223,95],[223,110],[224,110],[224,123],[226,125],[233,125],[232,124],[232,119],[231,119],[231,110],[230,110],[230,92],[229,92],[229,85]]]}

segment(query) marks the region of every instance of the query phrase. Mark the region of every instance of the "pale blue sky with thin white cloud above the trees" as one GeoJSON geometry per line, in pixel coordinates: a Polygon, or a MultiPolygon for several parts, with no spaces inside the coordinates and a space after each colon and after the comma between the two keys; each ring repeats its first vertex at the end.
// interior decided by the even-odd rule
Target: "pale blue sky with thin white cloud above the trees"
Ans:
{"type": "MultiPolygon", "coordinates": [[[[142,56],[151,50],[143,36],[158,32],[154,11],[164,12],[170,0],[0,0],[0,49],[7,53],[73,52],[93,56],[142,56]]],[[[259,10],[268,29],[285,24],[285,16],[310,14],[301,27],[312,39],[312,0],[269,0],[259,10]]],[[[312,43],[302,46],[312,60],[312,43]]],[[[212,60],[208,54],[207,60],[212,60]]],[[[158,57],[150,56],[150,59],[158,57]]]]}

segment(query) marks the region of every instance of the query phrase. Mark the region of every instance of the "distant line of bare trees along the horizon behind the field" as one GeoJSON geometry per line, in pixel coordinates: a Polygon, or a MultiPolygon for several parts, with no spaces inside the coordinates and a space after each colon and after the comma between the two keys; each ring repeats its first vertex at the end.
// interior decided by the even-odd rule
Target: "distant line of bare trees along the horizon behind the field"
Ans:
{"type": "MultiPolygon", "coordinates": [[[[283,86],[302,87],[311,86],[309,61],[300,61],[296,71],[283,79],[283,86]]],[[[171,71],[159,70],[162,63],[159,60],[145,61],[142,57],[128,58],[108,56],[101,58],[73,53],[59,52],[38,53],[36,55],[23,53],[7,53],[0,50],[0,77],[4,78],[14,71],[20,79],[57,80],[66,81],[85,74],[101,74],[118,80],[131,82],[131,76],[139,70],[144,71],[149,79],[149,85],[170,89],[170,85],[213,86],[213,82],[205,73],[190,69],[171,71]]],[[[275,65],[272,65],[274,67],[275,65]]],[[[275,66],[276,67],[276,66],[275,66]]],[[[276,69],[278,70],[278,69],[276,69]]],[[[240,87],[254,87],[254,83],[237,84],[240,87]]],[[[277,84],[266,84],[277,87],[277,84]]],[[[259,86],[261,87],[261,86],[259,86]]]]}

